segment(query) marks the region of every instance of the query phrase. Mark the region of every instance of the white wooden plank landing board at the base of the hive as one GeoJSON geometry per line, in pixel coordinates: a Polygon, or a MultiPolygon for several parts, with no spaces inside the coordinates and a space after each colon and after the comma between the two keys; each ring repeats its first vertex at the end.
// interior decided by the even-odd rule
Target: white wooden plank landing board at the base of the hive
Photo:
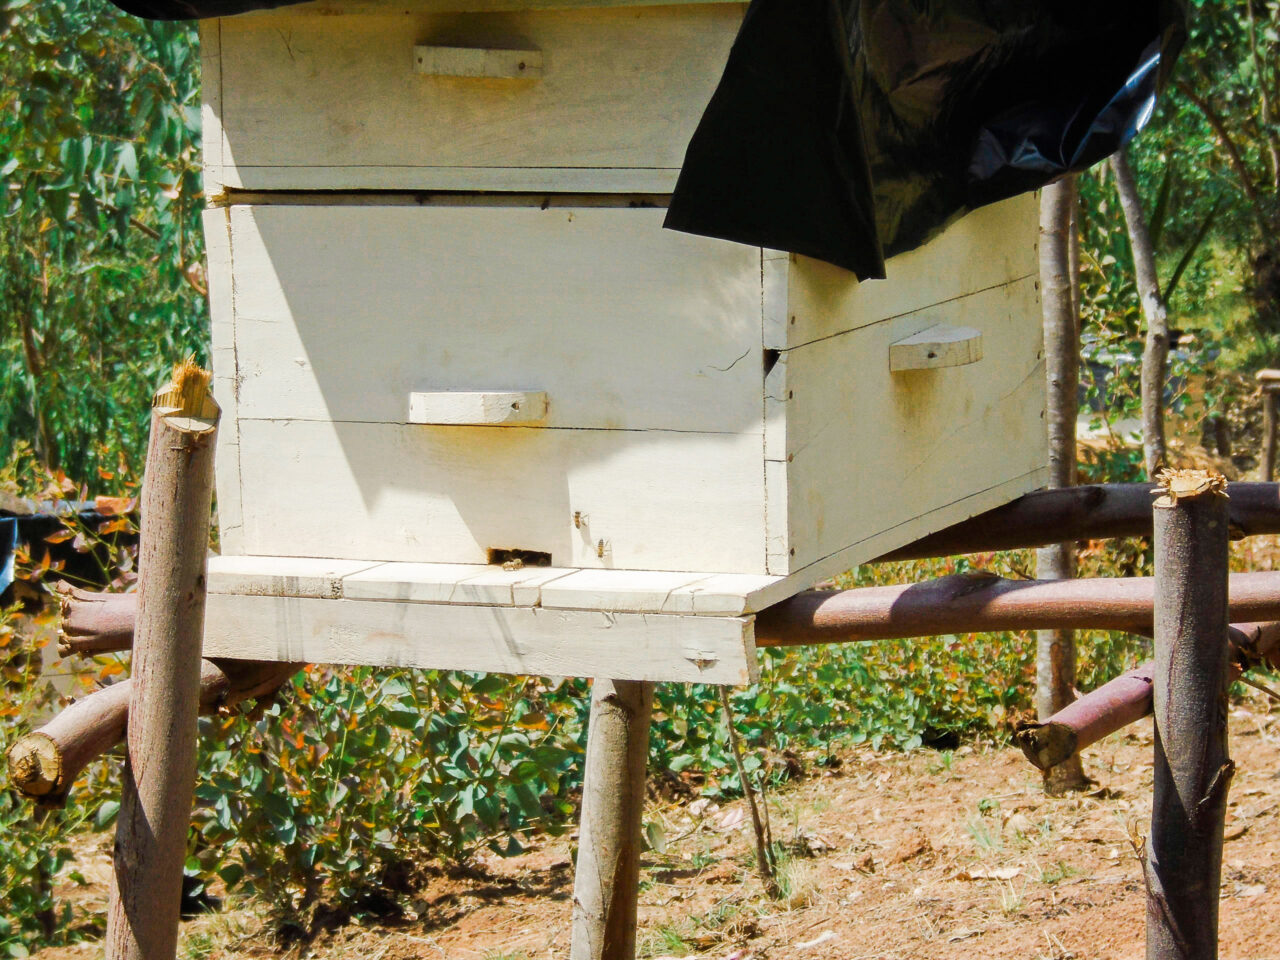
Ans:
{"type": "Polygon", "coordinates": [[[731,612],[772,602],[778,582],[705,573],[215,557],[204,652],[740,685],[758,676],[754,618],[731,612]],[[575,585],[584,575],[588,580],[575,585]],[[553,591],[558,584],[564,586],[553,591]],[[585,607],[568,605],[576,602],[585,607]]]}

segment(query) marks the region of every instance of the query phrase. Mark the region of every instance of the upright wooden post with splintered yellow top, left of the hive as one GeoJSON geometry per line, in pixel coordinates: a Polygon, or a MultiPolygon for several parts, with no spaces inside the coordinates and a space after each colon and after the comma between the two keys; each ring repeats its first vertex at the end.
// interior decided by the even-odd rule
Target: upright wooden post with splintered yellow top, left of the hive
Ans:
{"type": "Polygon", "coordinates": [[[196,785],[205,557],[218,404],[180,364],[151,403],[127,758],[106,919],[108,960],[173,960],[196,785]]]}

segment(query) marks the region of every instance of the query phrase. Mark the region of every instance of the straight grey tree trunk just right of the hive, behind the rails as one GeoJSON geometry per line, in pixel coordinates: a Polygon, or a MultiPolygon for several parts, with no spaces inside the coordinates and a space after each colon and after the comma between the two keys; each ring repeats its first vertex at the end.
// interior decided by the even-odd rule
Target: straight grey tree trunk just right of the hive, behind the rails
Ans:
{"type": "MultiPolygon", "coordinates": [[[[1075,485],[1075,420],[1079,408],[1080,338],[1071,274],[1071,214],[1075,178],[1065,177],[1041,193],[1041,305],[1044,320],[1044,372],[1048,380],[1044,420],[1048,426],[1048,486],[1075,485]]],[[[1056,543],[1036,553],[1041,580],[1075,576],[1075,544],[1056,543]]],[[[1036,712],[1048,719],[1075,699],[1075,634],[1039,630],[1036,634],[1036,712]]],[[[1079,754],[1044,776],[1048,794],[1083,790],[1089,785],[1079,754]]]]}

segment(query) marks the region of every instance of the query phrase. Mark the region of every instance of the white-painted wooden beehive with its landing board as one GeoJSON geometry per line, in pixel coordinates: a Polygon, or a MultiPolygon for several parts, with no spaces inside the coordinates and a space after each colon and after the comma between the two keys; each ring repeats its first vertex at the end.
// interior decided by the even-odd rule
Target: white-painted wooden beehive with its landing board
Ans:
{"type": "Polygon", "coordinates": [[[1033,197],[861,284],[662,229],[744,6],[204,24],[207,652],[737,682],[754,611],[1042,483],[1033,197]]]}

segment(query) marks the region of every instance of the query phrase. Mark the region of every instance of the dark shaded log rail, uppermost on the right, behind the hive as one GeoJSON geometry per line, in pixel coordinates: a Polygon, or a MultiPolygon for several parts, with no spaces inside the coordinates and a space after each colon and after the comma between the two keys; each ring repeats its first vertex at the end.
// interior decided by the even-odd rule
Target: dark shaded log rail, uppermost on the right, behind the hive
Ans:
{"type": "MultiPolygon", "coordinates": [[[[1091,484],[1037,490],[979,513],[915,543],[877,557],[874,563],[1014,550],[1062,540],[1151,536],[1151,484],[1091,484]]],[[[1228,484],[1234,539],[1280,534],[1280,484],[1228,484]]]]}

